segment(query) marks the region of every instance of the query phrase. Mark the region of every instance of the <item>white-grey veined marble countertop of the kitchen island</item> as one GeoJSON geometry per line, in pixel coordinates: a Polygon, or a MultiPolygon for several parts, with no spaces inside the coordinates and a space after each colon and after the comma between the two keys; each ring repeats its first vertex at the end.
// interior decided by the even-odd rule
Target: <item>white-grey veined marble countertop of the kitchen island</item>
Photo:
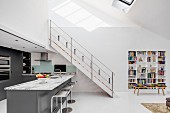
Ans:
{"type": "Polygon", "coordinates": [[[41,78],[22,84],[6,87],[5,90],[53,90],[62,83],[66,82],[74,75],[65,75],[62,78],[41,78]]]}

